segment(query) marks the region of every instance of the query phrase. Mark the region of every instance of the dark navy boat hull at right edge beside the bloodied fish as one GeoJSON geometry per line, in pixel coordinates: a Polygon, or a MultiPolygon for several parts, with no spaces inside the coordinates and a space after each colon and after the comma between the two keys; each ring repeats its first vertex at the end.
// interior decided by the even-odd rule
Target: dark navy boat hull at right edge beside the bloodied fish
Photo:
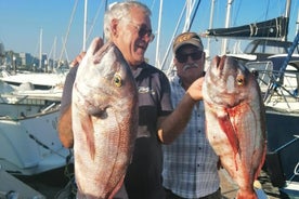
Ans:
{"type": "Polygon", "coordinates": [[[281,167],[285,181],[299,182],[299,175],[294,174],[299,162],[299,138],[297,137],[299,135],[299,112],[285,112],[269,108],[266,110],[266,128],[269,154],[272,154],[274,159],[278,159],[277,163],[281,164],[273,165],[273,159],[269,159],[269,167],[276,169],[281,167]]]}

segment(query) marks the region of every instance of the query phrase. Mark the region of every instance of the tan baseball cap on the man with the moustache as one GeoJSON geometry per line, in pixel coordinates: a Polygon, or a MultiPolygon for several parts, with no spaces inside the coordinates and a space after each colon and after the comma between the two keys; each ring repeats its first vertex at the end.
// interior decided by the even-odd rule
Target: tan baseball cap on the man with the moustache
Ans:
{"type": "Polygon", "coordinates": [[[182,45],[192,44],[198,47],[199,50],[204,50],[204,45],[200,37],[195,32],[184,32],[179,35],[173,42],[173,53],[176,53],[182,45]]]}

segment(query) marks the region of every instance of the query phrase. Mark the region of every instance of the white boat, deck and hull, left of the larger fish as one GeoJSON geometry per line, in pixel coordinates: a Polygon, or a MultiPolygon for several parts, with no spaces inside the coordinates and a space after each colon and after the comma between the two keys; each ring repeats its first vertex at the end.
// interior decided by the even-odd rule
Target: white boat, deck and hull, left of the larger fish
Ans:
{"type": "Polygon", "coordinates": [[[63,147],[56,131],[62,89],[1,93],[2,169],[34,175],[66,164],[69,150],[63,147]]]}

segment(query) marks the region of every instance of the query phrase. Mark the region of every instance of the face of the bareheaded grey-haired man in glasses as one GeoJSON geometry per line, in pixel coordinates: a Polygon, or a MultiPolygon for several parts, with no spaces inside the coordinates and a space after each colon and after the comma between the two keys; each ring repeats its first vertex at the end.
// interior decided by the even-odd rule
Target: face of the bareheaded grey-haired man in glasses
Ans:
{"type": "Polygon", "coordinates": [[[133,8],[127,18],[121,18],[117,26],[115,43],[131,66],[144,62],[148,43],[154,39],[151,19],[140,9],[133,8]]]}

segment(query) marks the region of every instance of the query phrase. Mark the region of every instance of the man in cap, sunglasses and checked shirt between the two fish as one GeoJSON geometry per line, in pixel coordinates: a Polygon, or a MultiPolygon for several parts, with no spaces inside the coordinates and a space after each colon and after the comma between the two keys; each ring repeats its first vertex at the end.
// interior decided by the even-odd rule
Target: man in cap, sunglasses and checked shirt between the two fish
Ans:
{"type": "MultiPolygon", "coordinates": [[[[178,107],[190,85],[204,79],[205,52],[199,36],[184,32],[173,42],[177,74],[169,77],[171,101],[178,107]]],[[[203,101],[196,102],[187,125],[170,145],[164,145],[164,187],[166,199],[221,198],[219,157],[205,134],[203,101]]]]}

